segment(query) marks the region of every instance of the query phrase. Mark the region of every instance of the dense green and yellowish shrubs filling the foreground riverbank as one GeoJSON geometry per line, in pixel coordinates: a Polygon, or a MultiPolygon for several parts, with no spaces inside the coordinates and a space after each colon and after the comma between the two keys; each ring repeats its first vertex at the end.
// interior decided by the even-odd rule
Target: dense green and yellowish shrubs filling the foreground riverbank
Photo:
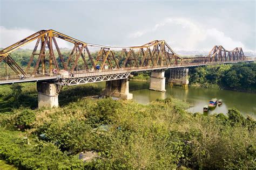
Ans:
{"type": "MultiPolygon", "coordinates": [[[[3,87],[1,97],[14,97],[10,87],[3,87]]],[[[0,158],[27,169],[256,167],[255,121],[236,109],[203,116],[187,113],[188,104],[173,98],[142,105],[78,93],[98,91],[93,85],[73,88],[63,89],[72,98],[60,97],[65,102],[60,108],[22,106],[2,112],[0,158]],[[44,140],[39,138],[42,133],[44,140]],[[83,162],[78,159],[82,151],[97,156],[83,162]]],[[[31,91],[24,85],[20,92],[31,91]]],[[[17,100],[23,103],[24,98],[17,100]]]]}

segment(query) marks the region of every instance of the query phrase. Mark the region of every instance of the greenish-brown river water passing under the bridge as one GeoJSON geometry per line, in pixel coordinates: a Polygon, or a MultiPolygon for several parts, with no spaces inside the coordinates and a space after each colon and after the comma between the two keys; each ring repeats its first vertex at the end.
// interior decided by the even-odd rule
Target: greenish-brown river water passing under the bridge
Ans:
{"type": "MultiPolygon", "coordinates": [[[[104,87],[105,82],[100,82],[99,86],[104,87]]],[[[205,89],[200,87],[188,87],[184,89],[181,86],[170,87],[166,84],[166,92],[149,90],[149,82],[129,81],[130,93],[133,99],[141,104],[148,104],[158,98],[164,99],[168,96],[178,98],[190,103],[191,107],[187,109],[192,113],[200,112],[211,115],[214,113],[226,114],[228,108],[237,108],[243,115],[250,115],[256,119],[256,94],[244,93],[230,90],[205,89]],[[204,105],[208,104],[211,98],[218,98],[223,101],[220,107],[214,110],[203,112],[204,105]]]]}

